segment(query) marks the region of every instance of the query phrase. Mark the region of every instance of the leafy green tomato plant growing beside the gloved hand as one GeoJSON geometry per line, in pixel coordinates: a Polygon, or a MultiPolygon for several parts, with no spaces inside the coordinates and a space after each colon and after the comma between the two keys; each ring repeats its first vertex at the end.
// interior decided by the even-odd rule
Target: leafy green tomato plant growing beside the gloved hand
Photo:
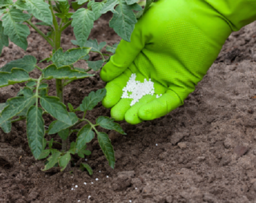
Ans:
{"type": "MultiPolygon", "coordinates": [[[[97,126],[122,134],[125,132],[109,117],[100,116],[95,124],[85,118],[86,112],[93,110],[101,102],[106,95],[106,90],[99,89],[91,92],[84,97],[82,104],[74,109],[72,104],[68,103],[67,108],[63,103],[63,88],[76,79],[93,77],[94,74],[88,74],[88,71],[98,71],[109,60],[110,55],[101,53],[106,42],[98,44],[97,39],[88,39],[94,21],[102,13],[109,10],[113,12],[109,26],[120,37],[130,41],[131,32],[137,22],[136,15],[140,17],[151,3],[147,1],[143,10],[136,2],[136,0],[104,0],[102,2],[77,0],[72,3],[66,0],[0,0],[0,54],[3,46],[9,45],[9,40],[26,50],[27,37],[30,34],[28,26],[37,31],[52,46],[52,53],[44,59],[51,61],[52,64],[46,68],[37,66],[37,60],[30,55],[10,61],[0,68],[0,88],[26,82],[26,86],[20,89],[16,97],[0,104],[0,127],[5,133],[9,133],[13,122],[26,119],[27,139],[31,153],[36,160],[43,158],[48,160],[44,171],[56,164],[63,171],[72,159],[71,154],[77,154],[81,158],[84,158],[84,155],[90,155],[91,152],[86,150],[86,143],[91,142],[95,133],[109,165],[114,168],[115,156],[111,140],[106,133],[98,132],[97,126]],[[134,13],[134,10],[138,13],[134,13]],[[33,18],[40,22],[32,23],[33,18]],[[49,32],[43,33],[40,26],[48,26],[49,32]],[[77,48],[63,52],[61,36],[69,26],[73,27],[76,40],[72,43],[77,45],[77,48]],[[88,61],[90,52],[99,53],[102,59],[88,61]],[[86,61],[88,69],[74,67],[73,64],[78,60],[86,61]],[[30,77],[29,72],[34,68],[40,70],[40,77],[30,77]],[[49,87],[45,81],[50,79],[56,80],[56,96],[48,95],[49,87]],[[83,111],[82,118],[77,117],[77,111],[83,111]],[[49,128],[45,128],[42,118],[44,114],[49,114],[56,119],[49,128]],[[84,126],[76,129],[79,124],[84,126]],[[54,139],[48,141],[45,139],[48,135],[56,133],[62,139],[62,143],[59,143],[62,144],[62,150],[52,148],[54,139]],[[77,133],[76,142],[69,143],[71,133],[77,133]]],[[[116,47],[117,44],[106,46],[106,51],[115,53],[116,47]]],[[[81,168],[86,168],[90,174],[92,173],[90,166],[86,163],[81,164],[81,168]]]]}

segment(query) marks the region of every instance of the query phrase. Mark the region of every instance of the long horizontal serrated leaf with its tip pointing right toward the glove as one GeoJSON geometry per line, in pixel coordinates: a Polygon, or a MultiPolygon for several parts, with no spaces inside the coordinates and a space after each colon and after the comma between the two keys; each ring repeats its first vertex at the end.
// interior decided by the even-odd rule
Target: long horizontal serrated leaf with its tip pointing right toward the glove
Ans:
{"type": "Polygon", "coordinates": [[[72,70],[70,66],[63,66],[61,68],[57,68],[54,64],[45,68],[43,73],[44,79],[80,79],[93,76],[92,74],[72,70]]]}

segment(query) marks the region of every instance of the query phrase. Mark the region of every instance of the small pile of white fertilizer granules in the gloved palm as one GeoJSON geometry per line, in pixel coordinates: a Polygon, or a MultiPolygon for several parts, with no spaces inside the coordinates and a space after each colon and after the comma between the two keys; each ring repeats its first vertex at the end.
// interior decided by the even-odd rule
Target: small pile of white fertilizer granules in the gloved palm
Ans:
{"type": "MultiPolygon", "coordinates": [[[[133,99],[130,106],[136,104],[143,96],[153,96],[155,93],[154,82],[152,82],[151,79],[149,81],[144,79],[144,82],[136,81],[135,79],[136,74],[131,74],[129,81],[127,82],[125,88],[123,88],[123,95],[121,97],[123,99],[133,99]]],[[[157,98],[161,96],[162,95],[157,95],[157,98]]]]}

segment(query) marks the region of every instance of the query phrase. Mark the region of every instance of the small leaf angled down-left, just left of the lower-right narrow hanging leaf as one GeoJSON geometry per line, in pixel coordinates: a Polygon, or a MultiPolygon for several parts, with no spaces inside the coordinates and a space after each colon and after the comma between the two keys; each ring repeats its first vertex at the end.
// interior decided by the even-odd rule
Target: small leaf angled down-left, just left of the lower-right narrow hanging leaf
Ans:
{"type": "Polygon", "coordinates": [[[77,133],[76,148],[81,150],[84,148],[86,143],[91,142],[94,138],[94,132],[91,130],[91,125],[87,124],[80,129],[77,133]]]}

